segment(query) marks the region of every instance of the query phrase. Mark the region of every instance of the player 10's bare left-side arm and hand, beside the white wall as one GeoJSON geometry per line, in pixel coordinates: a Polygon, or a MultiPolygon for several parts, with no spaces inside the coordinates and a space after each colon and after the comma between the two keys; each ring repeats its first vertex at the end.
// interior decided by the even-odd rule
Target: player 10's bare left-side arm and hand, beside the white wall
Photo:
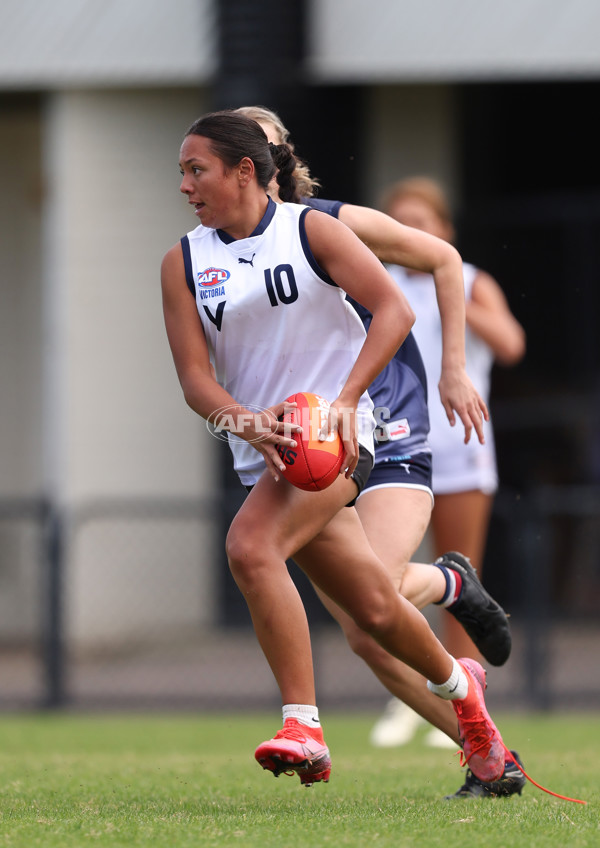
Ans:
{"type": "Polygon", "coordinates": [[[284,404],[273,407],[270,413],[258,415],[237,403],[217,383],[196,301],[186,285],[179,244],[172,247],[163,259],[161,286],[167,337],[186,403],[202,418],[223,429],[231,430],[226,421],[235,421],[240,427],[236,429],[236,434],[252,442],[253,447],[263,455],[267,469],[277,480],[278,472],[284,471],[285,466],[275,445],[296,445],[293,438],[283,435],[283,424],[277,421],[284,404]],[[227,408],[227,419],[219,413],[224,407],[227,408]],[[265,436],[269,430],[271,435],[265,436]],[[257,436],[260,439],[255,441],[257,436]]]}

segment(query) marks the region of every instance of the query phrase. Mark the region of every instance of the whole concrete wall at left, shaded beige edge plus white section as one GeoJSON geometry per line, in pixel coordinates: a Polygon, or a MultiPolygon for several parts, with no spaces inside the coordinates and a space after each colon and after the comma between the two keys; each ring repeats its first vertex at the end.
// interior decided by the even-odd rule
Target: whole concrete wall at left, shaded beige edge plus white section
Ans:
{"type": "MultiPolygon", "coordinates": [[[[39,104],[13,101],[0,120],[0,494],[48,495],[65,516],[77,644],[198,626],[214,610],[213,514],[140,524],[101,513],[115,500],[214,495],[215,442],[183,401],[159,279],[196,223],[177,161],[205,102],[197,90],[103,90],[39,104]],[[100,516],[83,521],[93,505],[100,516]]],[[[26,587],[38,565],[29,555],[17,568],[22,534],[6,532],[0,604],[14,634],[35,626],[26,587]]]]}

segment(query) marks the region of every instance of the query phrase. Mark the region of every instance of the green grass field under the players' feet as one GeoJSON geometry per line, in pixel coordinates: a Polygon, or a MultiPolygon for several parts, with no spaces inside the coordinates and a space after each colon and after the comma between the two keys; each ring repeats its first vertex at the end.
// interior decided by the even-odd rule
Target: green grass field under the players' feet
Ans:
{"type": "Polygon", "coordinates": [[[375,716],[326,715],[329,784],[254,762],[271,716],[0,717],[0,846],[600,845],[600,719],[495,716],[539,783],[521,797],[447,802],[464,771],[419,740],[377,750],[375,716]]]}

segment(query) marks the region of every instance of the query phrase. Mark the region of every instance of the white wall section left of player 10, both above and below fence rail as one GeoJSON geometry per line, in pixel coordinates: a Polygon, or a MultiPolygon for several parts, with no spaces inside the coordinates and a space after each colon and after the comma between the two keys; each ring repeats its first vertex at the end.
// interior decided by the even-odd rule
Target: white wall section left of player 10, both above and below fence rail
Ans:
{"type": "Polygon", "coordinates": [[[203,109],[191,91],[48,101],[45,488],[71,531],[67,630],[79,646],[212,617],[212,515],[81,523],[90,504],[214,494],[215,443],[184,403],[159,282],[162,256],[195,226],[177,162],[203,109]]]}

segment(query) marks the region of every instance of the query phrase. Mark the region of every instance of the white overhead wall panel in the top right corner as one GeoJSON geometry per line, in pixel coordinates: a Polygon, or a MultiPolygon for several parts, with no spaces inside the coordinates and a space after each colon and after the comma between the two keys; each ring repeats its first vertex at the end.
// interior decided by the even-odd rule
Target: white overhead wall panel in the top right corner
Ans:
{"type": "Polygon", "coordinates": [[[314,0],[319,82],[597,78],[597,0],[314,0]]]}

